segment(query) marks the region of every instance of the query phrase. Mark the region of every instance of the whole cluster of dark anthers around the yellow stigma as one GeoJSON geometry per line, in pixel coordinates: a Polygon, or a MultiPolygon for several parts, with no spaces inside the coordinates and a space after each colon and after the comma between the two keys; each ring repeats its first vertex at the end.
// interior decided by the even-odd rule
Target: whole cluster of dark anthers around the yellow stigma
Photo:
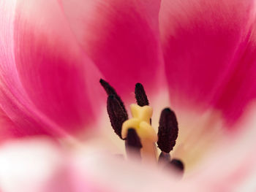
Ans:
{"type": "Polygon", "coordinates": [[[131,104],[132,118],[128,119],[124,102],[115,89],[105,80],[99,80],[108,94],[107,110],[111,126],[120,139],[125,140],[127,158],[141,158],[143,162],[151,161],[172,167],[183,174],[184,164],[181,160],[170,158],[170,151],[176,145],[178,137],[178,122],[175,113],[170,108],[162,110],[159,119],[158,134],[151,126],[152,107],[143,85],[135,85],[137,104],[131,104]],[[157,147],[162,151],[157,158],[157,147]]]}

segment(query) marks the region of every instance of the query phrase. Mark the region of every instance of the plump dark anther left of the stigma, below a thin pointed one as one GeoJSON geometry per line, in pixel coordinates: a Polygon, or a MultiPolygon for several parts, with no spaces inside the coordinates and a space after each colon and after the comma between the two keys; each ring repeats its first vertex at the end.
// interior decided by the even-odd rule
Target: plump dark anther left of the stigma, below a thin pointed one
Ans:
{"type": "Polygon", "coordinates": [[[116,99],[116,96],[114,95],[108,96],[107,110],[111,126],[115,133],[121,138],[121,127],[124,121],[128,119],[127,112],[124,112],[120,101],[116,99]]]}

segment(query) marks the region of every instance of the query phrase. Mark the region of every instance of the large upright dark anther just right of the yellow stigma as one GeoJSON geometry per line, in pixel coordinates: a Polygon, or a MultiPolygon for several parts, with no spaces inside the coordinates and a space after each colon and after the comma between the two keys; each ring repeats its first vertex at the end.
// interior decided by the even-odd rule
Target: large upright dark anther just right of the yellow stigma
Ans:
{"type": "Polygon", "coordinates": [[[170,153],[176,145],[178,137],[178,122],[175,113],[169,108],[162,110],[159,120],[157,145],[160,150],[170,153]]]}

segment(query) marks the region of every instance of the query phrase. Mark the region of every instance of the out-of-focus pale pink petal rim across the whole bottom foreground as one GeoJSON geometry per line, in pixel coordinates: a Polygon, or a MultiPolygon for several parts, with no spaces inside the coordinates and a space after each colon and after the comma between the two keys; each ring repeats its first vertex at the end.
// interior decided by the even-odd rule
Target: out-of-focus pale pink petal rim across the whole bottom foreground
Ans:
{"type": "Polygon", "coordinates": [[[245,114],[238,124],[246,131],[219,143],[182,180],[172,169],[124,161],[102,147],[77,143],[64,150],[37,137],[1,145],[0,188],[3,192],[255,191],[255,105],[245,114]]]}

